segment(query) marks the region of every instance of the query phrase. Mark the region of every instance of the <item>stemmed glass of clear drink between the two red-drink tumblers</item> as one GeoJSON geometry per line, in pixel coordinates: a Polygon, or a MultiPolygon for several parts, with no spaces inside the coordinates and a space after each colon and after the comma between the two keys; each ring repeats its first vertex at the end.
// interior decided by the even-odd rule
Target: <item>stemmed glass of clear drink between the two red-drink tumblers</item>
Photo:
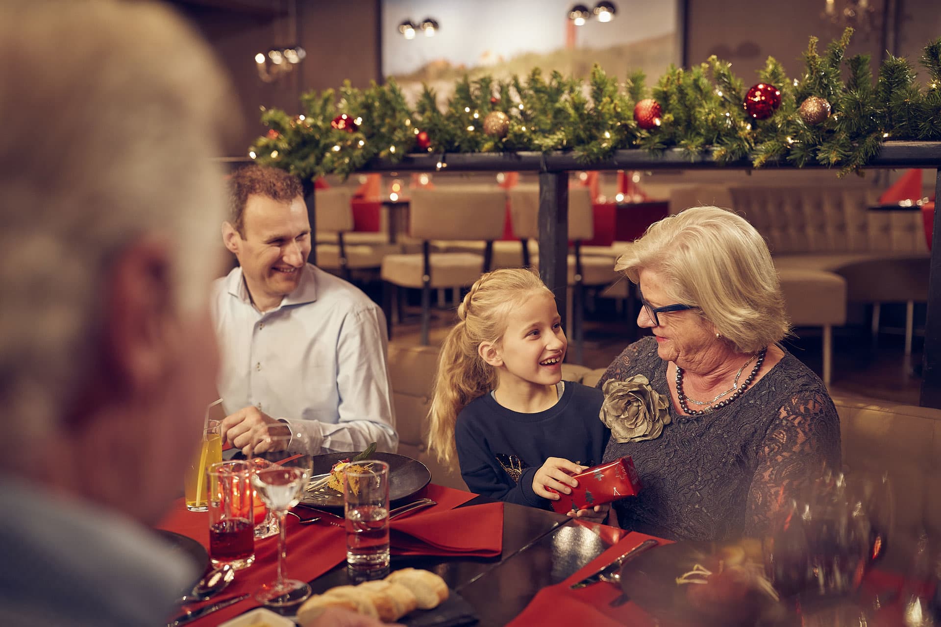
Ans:
{"type": "Polygon", "coordinates": [[[311,596],[311,587],[305,582],[288,579],[285,576],[287,561],[287,538],[285,518],[288,509],[297,505],[303,493],[304,486],[310,477],[310,458],[306,455],[292,456],[288,452],[288,445],[297,445],[301,434],[291,432],[284,424],[268,425],[261,428],[260,444],[264,457],[268,459],[281,458],[280,462],[255,470],[251,483],[264,504],[278,516],[278,578],[259,588],[255,592],[255,599],[266,605],[276,607],[300,603],[311,596]],[[294,442],[292,442],[292,439],[294,442]]]}

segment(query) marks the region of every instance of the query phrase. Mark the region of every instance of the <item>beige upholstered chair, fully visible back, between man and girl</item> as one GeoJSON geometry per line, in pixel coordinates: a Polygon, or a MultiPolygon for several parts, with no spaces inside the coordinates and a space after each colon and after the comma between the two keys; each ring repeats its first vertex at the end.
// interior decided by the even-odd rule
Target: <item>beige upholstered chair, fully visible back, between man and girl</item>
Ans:
{"type": "Polygon", "coordinates": [[[387,255],[380,276],[383,308],[390,325],[391,306],[398,305],[398,288],[422,290],[422,345],[428,345],[431,290],[470,287],[490,270],[493,241],[503,233],[506,195],[502,189],[416,189],[411,193],[408,230],[422,242],[422,252],[387,255]],[[483,241],[483,255],[468,252],[433,253],[433,240],[483,241]]]}

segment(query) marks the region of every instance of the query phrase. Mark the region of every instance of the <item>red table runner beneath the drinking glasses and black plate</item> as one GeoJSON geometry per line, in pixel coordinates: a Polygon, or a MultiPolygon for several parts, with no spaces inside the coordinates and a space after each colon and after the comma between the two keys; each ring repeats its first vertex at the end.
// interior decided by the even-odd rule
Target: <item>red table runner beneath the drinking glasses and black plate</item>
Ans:
{"type": "MultiPolygon", "coordinates": [[[[476,494],[445,488],[432,483],[413,496],[414,498],[430,498],[438,502],[438,505],[414,514],[415,516],[422,516],[423,514],[454,509],[458,505],[470,501],[476,494]]],[[[404,518],[402,522],[405,523],[407,520],[408,517],[404,518]]],[[[209,514],[187,510],[182,498],[173,505],[167,517],[156,526],[188,536],[199,541],[207,550],[209,549],[209,514]]],[[[287,545],[287,575],[292,579],[311,581],[346,559],[346,541],[343,535],[343,527],[339,526],[324,524],[299,525],[294,516],[288,516],[287,545]]],[[[255,563],[246,570],[239,571],[231,586],[226,588],[226,591],[219,596],[219,599],[254,593],[263,583],[274,581],[278,569],[277,560],[277,536],[256,541],[255,563]]],[[[216,600],[218,599],[212,601],[216,600]]],[[[214,612],[205,619],[195,620],[190,624],[193,627],[217,625],[257,605],[259,603],[254,598],[248,597],[241,603],[235,603],[214,612]]],[[[191,607],[196,606],[191,605],[191,607]]]]}

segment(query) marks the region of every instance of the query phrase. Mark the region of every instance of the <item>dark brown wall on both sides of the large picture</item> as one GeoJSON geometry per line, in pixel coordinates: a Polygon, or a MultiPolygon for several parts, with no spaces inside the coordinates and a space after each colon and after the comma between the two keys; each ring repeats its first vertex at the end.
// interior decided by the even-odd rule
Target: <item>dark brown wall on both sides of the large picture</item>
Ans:
{"type": "MultiPolygon", "coordinates": [[[[379,20],[381,0],[296,0],[297,43],[307,50],[299,71],[265,84],[258,78],[254,56],[273,45],[295,43],[288,40],[286,15],[273,11],[246,11],[217,8],[225,0],[174,0],[209,40],[231,75],[238,95],[231,116],[244,132],[228,147],[229,156],[245,156],[251,140],[263,133],[259,105],[277,106],[299,113],[298,98],[308,89],[325,89],[349,79],[354,86],[368,86],[380,76],[379,20]]],[[[472,10],[472,2],[467,2],[472,10]]],[[[941,37],[941,11],[938,0],[872,0],[898,5],[898,27],[893,52],[915,61],[921,46],[941,37]]],[[[780,60],[789,74],[799,75],[801,53],[807,38],[821,38],[821,49],[836,34],[821,20],[824,0],[788,0],[756,5],[754,0],[682,0],[686,7],[686,58],[688,63],[704,61],[710,54],[723,53],[746,86],[768,55],[780,60]]],[[[274,3],[283,5],[285,3],[274,3]]],[[[626,0],[619,3],[622,9],[626,0]]],[[[883,35],[869,39],[856,37],[851,54],[868,53],[874,61],[881,57],[883,35]]],[[[922,72],[923,74],[923,72],[922,72]]],[[[652,77],[656,78],[656,77],[652,77]]]]}

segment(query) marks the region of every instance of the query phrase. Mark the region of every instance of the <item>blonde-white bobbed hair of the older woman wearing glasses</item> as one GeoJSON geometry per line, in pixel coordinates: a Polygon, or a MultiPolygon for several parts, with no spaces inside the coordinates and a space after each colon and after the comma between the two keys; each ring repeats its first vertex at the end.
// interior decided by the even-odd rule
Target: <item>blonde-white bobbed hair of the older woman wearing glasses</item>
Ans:
{"type": "Polygon", "coordinates": [[[614,269],[637,283],[642,269],[666,277],[672,302],[699,307],[741,353],[789,334],[784,295],[768,244],[742,216],[693,207],[647,228],[614,269]]]}

